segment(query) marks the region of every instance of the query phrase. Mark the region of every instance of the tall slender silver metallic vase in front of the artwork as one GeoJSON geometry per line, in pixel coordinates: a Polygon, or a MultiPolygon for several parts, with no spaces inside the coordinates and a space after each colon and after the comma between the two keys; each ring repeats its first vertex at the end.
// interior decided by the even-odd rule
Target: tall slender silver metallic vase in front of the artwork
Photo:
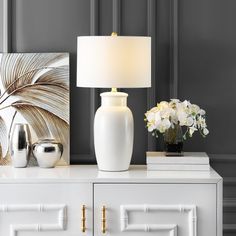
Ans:
{"type": "Polygon", "coordinates": [[[27,124],[15,124],[10,141],[12,165],[17,168],[26,167],[31,150],[31,135],[27,124]]]}

